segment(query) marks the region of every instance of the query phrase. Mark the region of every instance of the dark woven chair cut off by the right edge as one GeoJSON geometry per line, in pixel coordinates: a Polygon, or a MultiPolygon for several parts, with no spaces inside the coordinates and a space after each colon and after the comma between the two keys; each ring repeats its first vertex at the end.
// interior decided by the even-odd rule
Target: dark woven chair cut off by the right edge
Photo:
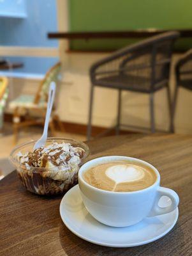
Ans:
{"type": "Polygon", "coordinates": [[[175,78],[175,92],[172,104],[172,132],[175,131],[174,116],[179,87],[185,88],[187,90],[192,90],[192,49],[183,54],[181,58],[179,58],[179,60],[177,60],[177,62],[175,63],[175,78]]]}

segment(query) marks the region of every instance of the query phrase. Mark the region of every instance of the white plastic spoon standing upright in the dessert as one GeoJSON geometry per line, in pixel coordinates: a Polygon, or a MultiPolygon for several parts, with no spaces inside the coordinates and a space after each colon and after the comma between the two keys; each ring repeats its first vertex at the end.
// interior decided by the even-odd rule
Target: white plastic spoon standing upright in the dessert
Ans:
{"type": "Polygon", "coordinates": [[[50,114],[51,114],[52,106],[54,103],[55,88],[56,88],[55,82],[50,83],[49,92],[48,92],[47,113],[46,113],[46,117],[45,117],[45,125],[44,125],[43,135],[41,136],[40,140],[36,141],[36,143],[34,144],[33,150],[35,150],[36,148],[45,146],[45,143],[47,141],[48,123],[50,120],[50,114]]]}

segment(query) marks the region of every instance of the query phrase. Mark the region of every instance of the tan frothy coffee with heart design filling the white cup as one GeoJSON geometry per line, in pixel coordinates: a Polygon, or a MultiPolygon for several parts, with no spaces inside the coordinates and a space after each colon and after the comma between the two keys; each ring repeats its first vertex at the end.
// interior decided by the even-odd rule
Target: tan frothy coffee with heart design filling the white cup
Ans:
{"type": "Polygon", "coordinates": [[[148,166],[129,161],[98,164],[84,172],[91,186],[107,191],[130,192],[148,188],[156,182],[156,173],[148,166]]]}

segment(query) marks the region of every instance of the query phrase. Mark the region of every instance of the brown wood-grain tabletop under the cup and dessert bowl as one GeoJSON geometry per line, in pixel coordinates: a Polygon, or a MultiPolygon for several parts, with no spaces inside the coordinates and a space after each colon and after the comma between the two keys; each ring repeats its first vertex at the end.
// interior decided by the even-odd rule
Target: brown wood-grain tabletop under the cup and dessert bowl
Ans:
{"type": "Polygon", "coordinates": [[[189,256],[191,242],[192,136],[127,135],[88,143],[89,159],[107,155],[149,161],[161,173],[161,184],[180,196],[179,220],[173,230],[154,243],[134,248],[108,248],[86,242],[68,230],[59,216],[61,196],[33,195],[20,185],[16,172],[0,182],[1,256],[189,256]]]}

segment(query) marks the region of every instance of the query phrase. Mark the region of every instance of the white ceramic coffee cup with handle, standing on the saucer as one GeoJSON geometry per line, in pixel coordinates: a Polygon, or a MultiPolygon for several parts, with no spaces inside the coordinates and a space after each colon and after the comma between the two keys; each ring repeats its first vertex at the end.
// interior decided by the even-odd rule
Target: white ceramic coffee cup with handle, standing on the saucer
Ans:
{"type": "Polygon", "coordinates": [[[106,156],[88,161],[78,172],[78,185],[84,205],[89,213],[101,223],[112,227],[134,225],[145,217],[174,211],[179,204],[179,196],[174,190],[159,186],[160,175],[151,164],[133,157],[106,156]],[[132,192],[114,192],[95,188],[85,182],[83,173],[90,168],[111,161],[131,161],[152,168],[157,175],[156,182],[148,188],[132,192]],[[172,202],[167,207],[159,207],[161,196],[168,196],[172,202]]]}

